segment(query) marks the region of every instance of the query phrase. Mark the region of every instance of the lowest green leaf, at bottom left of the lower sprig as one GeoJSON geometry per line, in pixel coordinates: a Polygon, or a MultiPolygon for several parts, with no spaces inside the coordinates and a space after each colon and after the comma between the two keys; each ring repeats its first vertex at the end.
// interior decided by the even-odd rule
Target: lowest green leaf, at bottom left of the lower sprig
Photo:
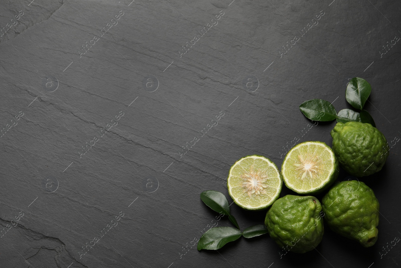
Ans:
{"type": "Polygon", "coordinates": [[[198,241],[198,250],[218,250],[228,242],[235,241],[242,233],[233,227],[213,227],[198,241]]]}

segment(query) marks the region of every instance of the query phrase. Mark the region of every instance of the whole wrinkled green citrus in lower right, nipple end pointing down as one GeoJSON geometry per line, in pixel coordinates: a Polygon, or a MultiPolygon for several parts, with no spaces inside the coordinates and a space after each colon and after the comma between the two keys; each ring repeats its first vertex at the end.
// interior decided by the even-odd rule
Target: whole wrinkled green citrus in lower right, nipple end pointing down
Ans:
{"type": "Polygon", "coordinates": [[[379,201],[365,183],[346,180],[334,185],[322,199],[324,219],[334,232],[365,248],[377,241],[379,201]]]}

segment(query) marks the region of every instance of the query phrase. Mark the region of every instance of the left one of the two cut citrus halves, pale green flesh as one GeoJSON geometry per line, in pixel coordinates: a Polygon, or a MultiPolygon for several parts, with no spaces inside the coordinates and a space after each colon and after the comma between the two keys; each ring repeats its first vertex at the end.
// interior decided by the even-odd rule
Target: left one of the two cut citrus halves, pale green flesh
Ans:
{"type": "Polygon", "coordinates": [[[227,189],[243,209],[266,209],[280,195],[283,180],[277,166],[261,155],[248,155],[230,168],[227,189]]]}

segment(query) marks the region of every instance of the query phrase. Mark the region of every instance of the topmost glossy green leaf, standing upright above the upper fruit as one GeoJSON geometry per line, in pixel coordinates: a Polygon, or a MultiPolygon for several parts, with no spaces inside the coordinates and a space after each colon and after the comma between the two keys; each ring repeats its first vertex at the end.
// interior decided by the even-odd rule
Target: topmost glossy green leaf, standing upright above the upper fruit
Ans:
{"type": "Polygon", "coordinates": [[[345,98],[355,109],[362,110],[371,94],[372,87],[365,79],[354,77],[347,84],[345,98]]]}

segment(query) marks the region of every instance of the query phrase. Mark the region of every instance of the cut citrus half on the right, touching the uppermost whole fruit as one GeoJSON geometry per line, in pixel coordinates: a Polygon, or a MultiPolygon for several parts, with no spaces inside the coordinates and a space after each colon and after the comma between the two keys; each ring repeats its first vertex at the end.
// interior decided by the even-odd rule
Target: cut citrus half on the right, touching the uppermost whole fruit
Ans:
{"type": "Polygon", "coordinates": [[[284,183],[294,192],[319,193],[337,179],[338,160],[326,143],[305,141],[288,151],[281,172],[284,183]]]}

